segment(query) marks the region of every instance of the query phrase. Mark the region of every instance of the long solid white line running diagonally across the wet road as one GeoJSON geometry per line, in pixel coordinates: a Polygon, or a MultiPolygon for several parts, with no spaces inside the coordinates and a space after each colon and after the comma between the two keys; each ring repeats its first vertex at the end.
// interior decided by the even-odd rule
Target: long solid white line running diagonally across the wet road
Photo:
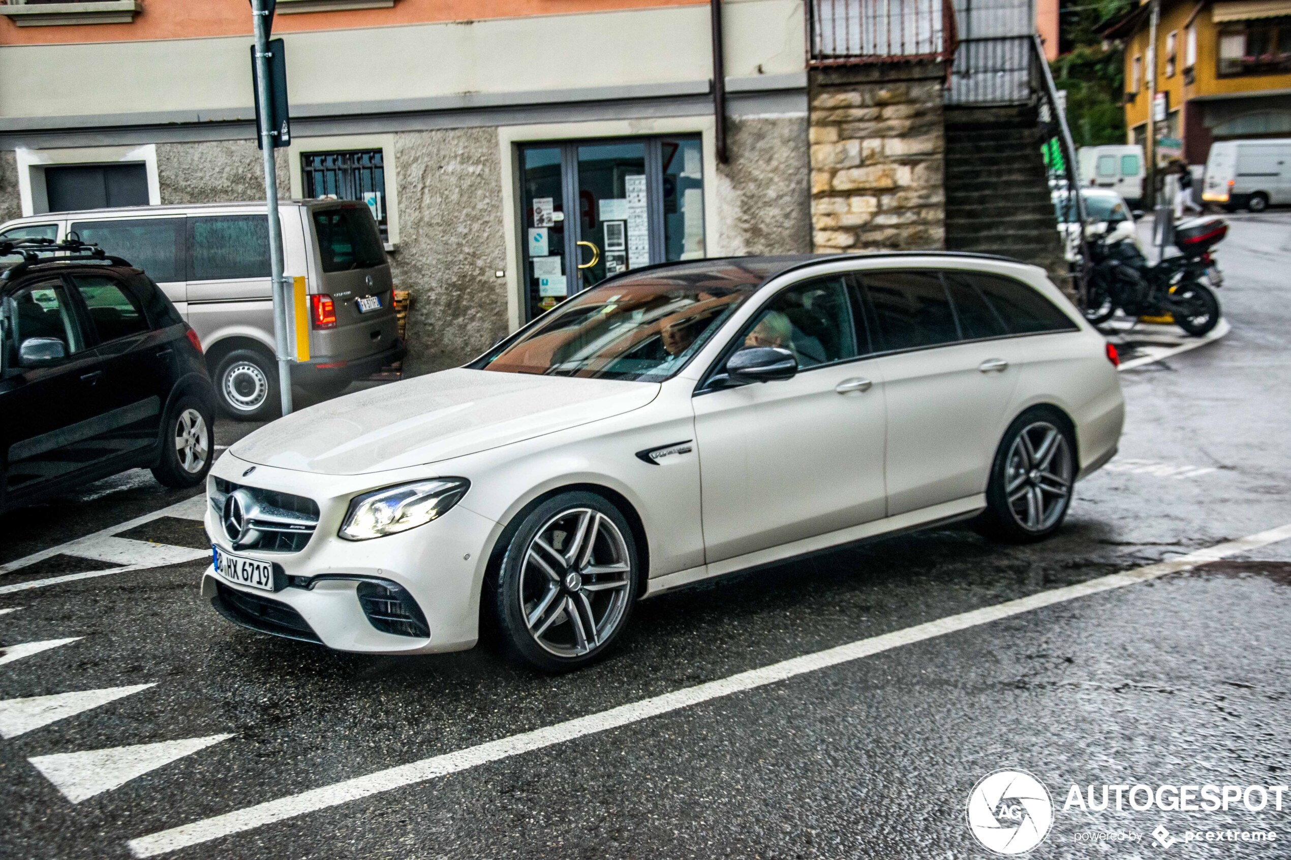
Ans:
{"type": "Polygon", "coordinates": [[[840,645],[838,647],[817,651],[815,654],[793,658],[790,660],[784,660],[782,663],[762,667],[760,669],[741,672],[718,681],[710,681],[707,683],[676,690],[674,692],[666,692],[651,699],[642,699],[640,701],[633,701],[626,705],[611,708],[609,710],[603,710],[600,713],[587,714],[585,717],[569,719],[554,726],[545,726],[520,735],[491,740],[476,747],[469,747],[466,749],[458,749],[443,756],[423,758],[408,765],[399,765],[396,767],[376,771],[373,774],[345,780],[342,783],[324,785],[321,788],[315,788],[290,797],[283,797],[275,801],[258,803],[256,806],[248,806],[245,808],[217,815],[210,819],[192,821],[169,830],[161,830],[150,836],[130,839],[129,848],[136,857],[151,857],[159,854],[177,851],[188,846],[209,842],[210,839],[218,839],[234,833],[241,833],[244,830],[265,826],[266,824],[272,824],[275,821],[283,821],[298,815],[306,815],[318,810],[325,810],[332,806],[356,801],[359,798],[371,797],[381,792],[389,792],[391,789],[431,780],[444,776],[445,774],[454,774],[485,765],[488,762],[509,758],[511,756],[519,756],[522,753],[542,749],[554,744],[562,744],[576,738],[608,731],[611,728],[626,726],[649,717],[678,710],[680,708],[688,708],[702,701],[729,696],[745,690],[754,690],[757,687],[776,683],[777,681],[785,681],[786,678],[793,678],[808,672],[817,672],[840,663],[849,663],[889,649],[900,647],[902,645],[922,642],[924,640],[945,636],[957,630],[988,624],[990,621],[998,621],[1003,618],[1010,618],[1020,612],[1029,612],[1044,606],[1052,606],[1053,603],[1061,603],[1077,597],[1086,597],[1088,594],[1097,594],[1114,588],[1133,585],[1166,574],[1190,570],[1197,565],[1219,561],[1220,558],[1257,549],[1288,538],[1291,538],[1291,525],[1285,525],[1278,529],[1270,529],[1268,531],[1250,535],[1247,538],[1239,538],[1237,540],[1229,540],[1206,549],[1198,549],[1197,552],[1190,552],[1186,556],[1181,556],[1171,561],[1146,565],[1145,567],[1137,567],[1122,574],[1100,576],[1099,579],[1078,583],[1075,585],[1068,585],[1065,588],[1055,588],[1038,594],[1032,594],[1030,597],[1022,597],[1020,600],[997,603],[995,606],[977,609],[971,612],[950,615],[926,624],[909,627],[902,630],[895,630],[892,633],[860,640],[848,645],[840,645]]]}

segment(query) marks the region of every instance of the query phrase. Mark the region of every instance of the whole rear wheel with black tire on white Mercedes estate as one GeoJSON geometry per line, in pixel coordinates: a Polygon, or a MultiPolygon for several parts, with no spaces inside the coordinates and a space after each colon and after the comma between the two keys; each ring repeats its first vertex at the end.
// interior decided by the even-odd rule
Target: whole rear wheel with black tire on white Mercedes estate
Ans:
{"type": "Polygon", "coordinates": [[[1044,406],[1026,410],[1008,425],[999,442],[986,485],[986,509],[973,522],[975,527],[989,538],[1008,543],[1044,540],[1062,527],[1072,505],[1077,471],[1075,438],[1062,414],[1044,406]],[[1048,454],[1044,446],[1051,431],[1056,435],[1052,442],[1056,447],[1048,454]],[[1021,442],[1024,432],[1026,441],[1021,442]],[[1038,468],[1035,462],[1029,463],[1030,468],[1021,468],[1019,445],[1024,456],[1052,459],[1044,468],[1038,468]],[[1064,484],[1065,490],[1056,493],[1064,484]],[[1039,502],[1034,509],[1038,516],[1033,518],[1030,514],[1037,494],[1039,502]]]}

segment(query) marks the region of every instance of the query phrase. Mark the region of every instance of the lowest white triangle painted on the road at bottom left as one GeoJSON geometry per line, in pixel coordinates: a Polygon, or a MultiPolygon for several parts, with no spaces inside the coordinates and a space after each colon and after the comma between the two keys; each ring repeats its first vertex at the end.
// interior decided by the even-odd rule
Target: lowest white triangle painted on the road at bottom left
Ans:
{"type": "Polygon", "coordinates": [[[209,735],[167,740],[159,744],[136,744],[90,749],[80,753],[57,753],[28,758],[36,770],[54,784],[72,803],[120,788],[136,776],[191,756],[199,749],[227,740],[232,735],[209,735]]]}

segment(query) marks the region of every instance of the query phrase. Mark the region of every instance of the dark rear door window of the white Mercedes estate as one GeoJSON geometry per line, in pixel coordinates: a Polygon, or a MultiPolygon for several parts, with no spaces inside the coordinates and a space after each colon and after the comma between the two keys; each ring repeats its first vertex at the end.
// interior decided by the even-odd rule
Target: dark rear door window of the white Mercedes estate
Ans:
{"type": "Polygon", "coordinates": [[[933,271],[861,272],[875,349],[918,349],[959,339],[950,299],[933,271]]]}

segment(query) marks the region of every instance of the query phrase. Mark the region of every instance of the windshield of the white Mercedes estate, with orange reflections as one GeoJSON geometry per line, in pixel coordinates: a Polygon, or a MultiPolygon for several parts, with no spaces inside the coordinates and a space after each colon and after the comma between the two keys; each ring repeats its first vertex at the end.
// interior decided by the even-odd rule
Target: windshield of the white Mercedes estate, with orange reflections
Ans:
{"type": "Polygon", "coordinates": [[[554,308],[473,367],[662,382],[753,294],[766,272],[742,260],[615,279],[554,308]]]}

